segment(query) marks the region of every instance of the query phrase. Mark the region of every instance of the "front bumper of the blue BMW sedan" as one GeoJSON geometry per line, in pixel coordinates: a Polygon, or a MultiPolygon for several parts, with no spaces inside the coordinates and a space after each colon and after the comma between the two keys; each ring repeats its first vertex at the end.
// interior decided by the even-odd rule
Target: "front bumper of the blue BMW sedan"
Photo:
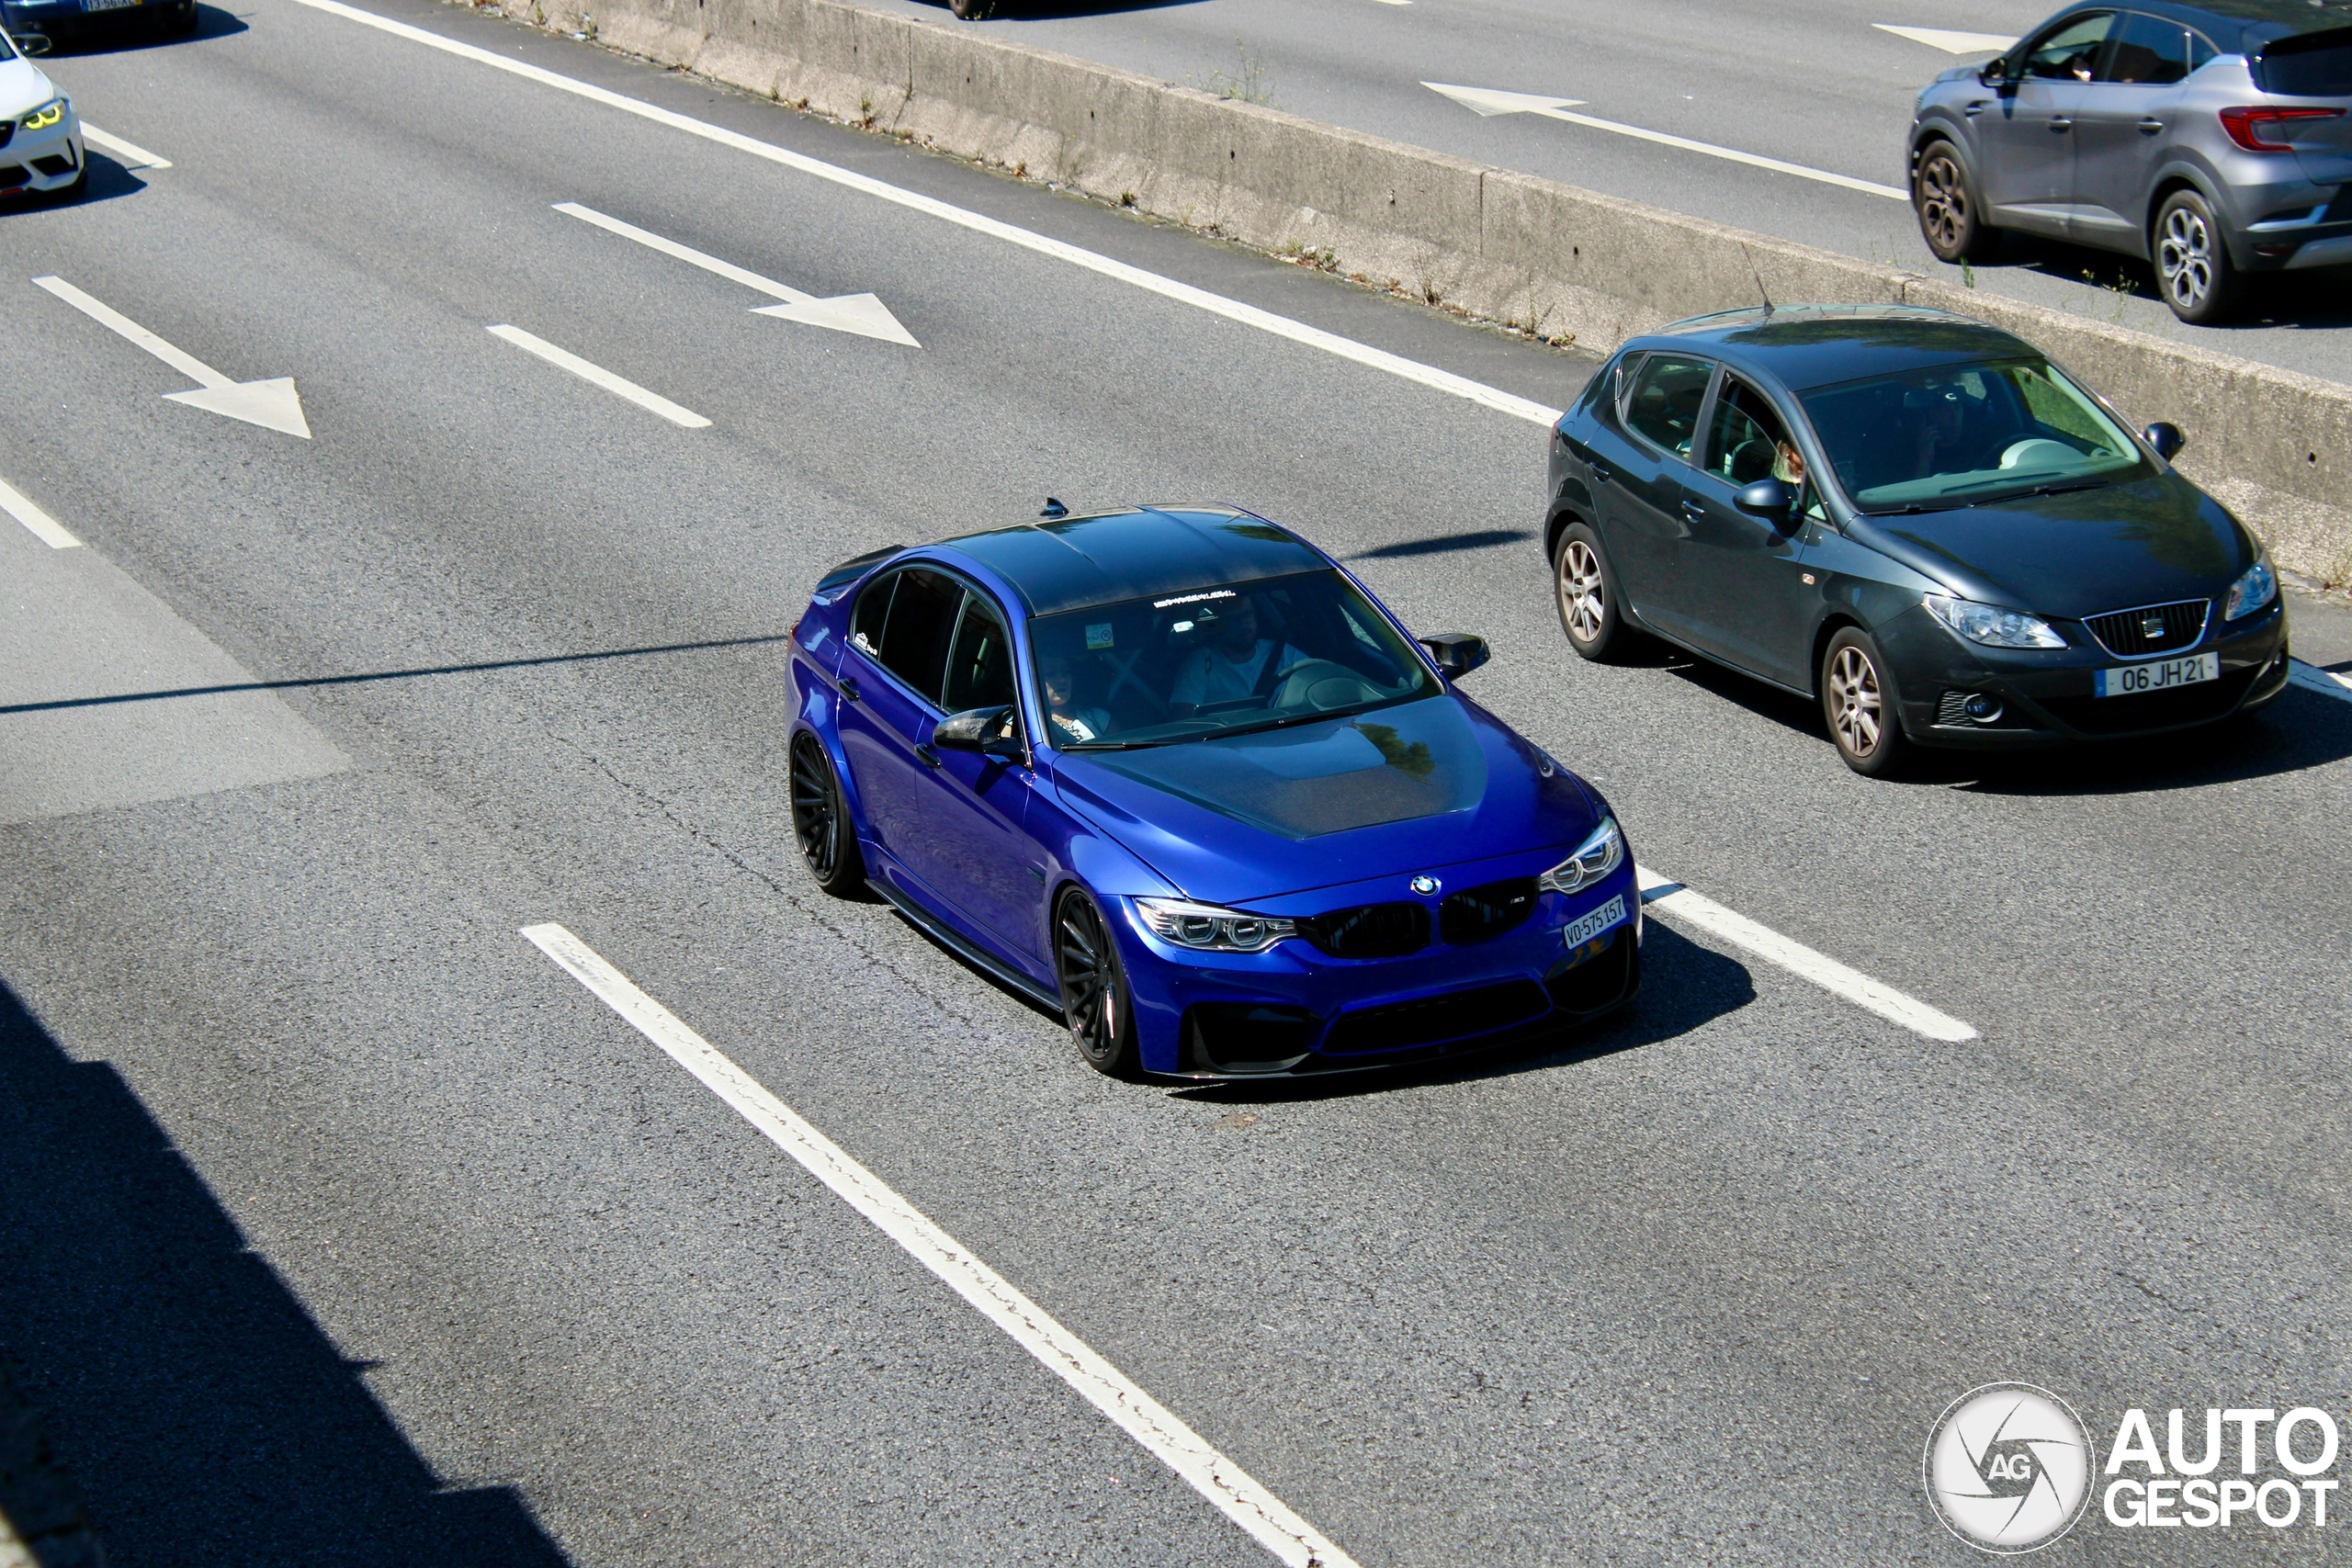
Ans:
{"type": "MultiPolygon", "coordinates": [[[[1444,867],[1449,889],[1534,877],[1566,851],[1444,867]]],[[[1263,900],[1263,914],[1312,914],[1397,898],[1397,877],[1263,900]],[[1296,905],[1296,910],[1291,907],[1296,905]]],[[[1432,922],[1435,922],[1435,905],[1432,922]]],[[[1642,896],[1632,856],[1599,886],[1538,893],[1524,924],[1479,943],[1385,959],[1338,959],[1296,936],[1265,952],[1192,952],[1152,936],[1120,900],[1120,952],[1143,1070],[1162,1077],[1305,1079],[1404,1067],[1557,1037],[1635,997],[1642,983],[1642,896]],[[1566,929],[1618,900],[1625,919],[1566,945],[1566,929]]]]}

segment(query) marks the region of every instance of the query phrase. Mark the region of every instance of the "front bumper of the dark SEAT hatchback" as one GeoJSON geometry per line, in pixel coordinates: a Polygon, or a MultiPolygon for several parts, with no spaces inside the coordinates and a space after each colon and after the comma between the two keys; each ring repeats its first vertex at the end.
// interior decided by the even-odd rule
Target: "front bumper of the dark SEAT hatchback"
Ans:
{"type": "MultiPolygon", "coordinates": [[[[2216,607],[2216,614],[2218,607],[2216,607]]],[[[1962,642],[1926,609],[1912,609],[1879,630],[1893,668],[1903,731],[1919,745],[1966,750],[2027,750],[2070,741],[2129,741],[2216,724],[2260,708],[2286,689],[2286,602],[2206,635],[2159,658],[2218,654],[2220,679],[2140,696],[2093,696],[2096,670],[2126,663],[2100,649],[2082,623],[2058,623],[2065,649],[1985,649],[1962,642]],[[1973,722],[1962,705],[1990,696],[1999,717],[1973,722]]]]}

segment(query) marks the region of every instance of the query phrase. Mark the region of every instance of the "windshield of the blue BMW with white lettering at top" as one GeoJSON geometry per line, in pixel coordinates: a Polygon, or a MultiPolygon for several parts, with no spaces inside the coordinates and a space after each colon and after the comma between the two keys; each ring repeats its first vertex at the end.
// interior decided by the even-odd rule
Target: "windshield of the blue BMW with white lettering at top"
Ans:
{"type": "Polygon", "coordinates": [[[1040,616],[1030,654],[1063,750],[1200,741],[1437,693],[1428,665],[1338,571],[1040,616]]]}

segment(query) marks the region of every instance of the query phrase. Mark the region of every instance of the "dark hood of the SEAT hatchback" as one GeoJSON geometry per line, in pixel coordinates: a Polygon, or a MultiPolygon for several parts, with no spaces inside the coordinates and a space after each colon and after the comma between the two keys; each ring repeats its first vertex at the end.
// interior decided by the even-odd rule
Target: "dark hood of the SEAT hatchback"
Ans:
{"type": "Polygon", "coordinates": [[[1849,534],[1971,599],[2065,621],[2209,599],[2258,555],[2218,501],[2171,473],[1955,512],[1860,517],[1849,534]]]}

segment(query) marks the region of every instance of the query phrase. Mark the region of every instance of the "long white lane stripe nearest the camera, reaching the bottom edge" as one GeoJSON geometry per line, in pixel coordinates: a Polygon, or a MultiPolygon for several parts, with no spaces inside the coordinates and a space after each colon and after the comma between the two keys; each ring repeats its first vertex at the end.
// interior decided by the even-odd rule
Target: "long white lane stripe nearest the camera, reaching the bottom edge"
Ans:
{"type": "Polygon", "coordinates": [[[588,943],[557,924],[524,926],[522,936],[555,959],[574,980],[595,992],[623,1023],[668,1051],[680,1067],[701,1079],[710,1093],[727,1100],[739,1117],[800,1161],[809,1175],[833,1187],[844,1204],[903,1246],[915,1262],[938,1274],[948,1288],[1011,1335],[1021,1349],[1037,1356],[1047,1371],[1077,1389],[1087,1403],[1115,1420],[1155,1460],[1183,1476],[1192,1490],[1216,1505],[1232,1523],[1249,1530],[1251,1540],[1272,1552],[1282,1563],[1291,1568],[1355,1568],[1355,1559],[1324,1540],[1315,1526],[1251,1481],[1240,1465],[1211,1448],[1197,1432],[1160,1406],[1157,1399],[1129,1382],[1120,1368],[1098,1356],[1084,1340],[1047,1316],[1037,1302],[974,1258],[955,1237],[931,1225],[931,1220],[891,1192],[873,1171],[802,1121],[790,1105],[736,1067],[717,1046],[637,990],[628,976],[607,964],[588,943]]]}

